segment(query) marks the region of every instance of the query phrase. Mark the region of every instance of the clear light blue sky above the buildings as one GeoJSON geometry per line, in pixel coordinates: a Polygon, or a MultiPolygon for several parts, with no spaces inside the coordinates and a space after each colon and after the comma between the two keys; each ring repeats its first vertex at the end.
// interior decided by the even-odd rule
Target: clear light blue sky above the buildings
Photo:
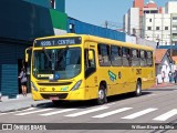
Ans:
{"type": "MultiPolygon", "coordinates": [[[[80,21],[103,27],[105,21],[118,28],[123,27],[123,16],[133,6],[134,0],[65,0],[65,12],[80,21]]],[[[145,0],[145,3],[149,0],[145,0]]],[[[154,0],[158,7],[165,7],[169,0],[154,0]]]]}

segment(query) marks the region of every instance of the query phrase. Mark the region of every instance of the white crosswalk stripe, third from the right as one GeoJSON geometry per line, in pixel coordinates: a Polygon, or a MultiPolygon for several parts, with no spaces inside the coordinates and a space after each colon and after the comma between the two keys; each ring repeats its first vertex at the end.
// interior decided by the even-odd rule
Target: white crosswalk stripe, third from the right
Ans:
{"type": "Polygon", "coordinates": [[[95,116],[92,116],[92,117],[105,117],[105,116],[110,116],[110,115],[113,115],[113,114],[116,114],[116,113],[121,113],[121,112],[124,112],[124,111],[127,111],[127,110],[131,110],[131,109],[133,109],[133,108],[123,108],[123,109],[106,112],[106,113],[103,113],[103,114],[100,114],[100,115],[95,115],[95,116]]]}

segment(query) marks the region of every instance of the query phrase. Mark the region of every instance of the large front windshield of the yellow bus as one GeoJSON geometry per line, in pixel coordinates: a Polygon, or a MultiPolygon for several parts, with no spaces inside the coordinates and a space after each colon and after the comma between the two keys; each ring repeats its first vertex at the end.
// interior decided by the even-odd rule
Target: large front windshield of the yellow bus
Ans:
{"type": "Polygon", "coordinates": [[[35,50],[32,66],[37,79],[49,79],[55,73],[58,80],[74,78],[81,72],[81,48],[35,50]]]}

